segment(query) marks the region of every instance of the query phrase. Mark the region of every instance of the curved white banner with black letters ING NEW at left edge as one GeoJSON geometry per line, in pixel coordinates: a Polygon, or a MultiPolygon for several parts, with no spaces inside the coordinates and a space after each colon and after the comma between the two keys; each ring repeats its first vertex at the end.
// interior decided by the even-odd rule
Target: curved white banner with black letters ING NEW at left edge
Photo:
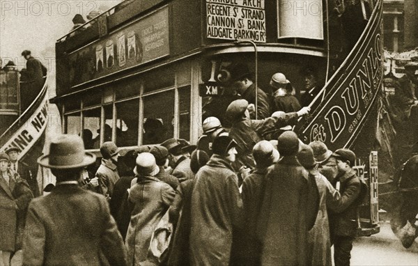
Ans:
{"type": "Polygon", "coordinates": [[[42,136],[45,128],[47,127],[48,122],[48,101],[47,93],[45,93],[44,99],[39,104],[39,107],[36,111],[33,112],[32,116],[26,120],[26,122],[10,137],[8,142],[6,142],[1,147],[1,152],[4,152],[8,148],[18,148],[19,159],[24,157],[26,152],[31,150],[33,145],[38,141],[40,136],[42,136]]]}

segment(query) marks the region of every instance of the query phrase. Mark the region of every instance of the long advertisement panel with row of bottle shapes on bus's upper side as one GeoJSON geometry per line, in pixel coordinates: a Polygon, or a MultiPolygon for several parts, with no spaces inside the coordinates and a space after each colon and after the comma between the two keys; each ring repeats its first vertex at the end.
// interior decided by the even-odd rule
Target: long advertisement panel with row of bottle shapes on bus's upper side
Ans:
{"type": "MultiPolygon", "coordinates": [[[[69,55],[70,85],[76,86],[170,54],[169,9],[161,8],[69,55]]],[[[58,62],[61,63],[61,62],[58,62]]],[[[68,64],[69,63],[69,64],[68,64]]]]}

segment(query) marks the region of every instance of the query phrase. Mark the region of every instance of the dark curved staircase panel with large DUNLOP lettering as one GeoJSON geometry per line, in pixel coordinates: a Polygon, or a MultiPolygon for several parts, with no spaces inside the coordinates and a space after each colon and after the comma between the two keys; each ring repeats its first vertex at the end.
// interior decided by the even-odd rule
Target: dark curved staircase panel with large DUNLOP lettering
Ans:
{"type": "Polygon", "coordinates": [[[323,92],[315,111],[297,132],[305,143],[323,141],[330,150],[350,148],[362,130],[382,89],[382,1],[366,31],[323,92]]]}

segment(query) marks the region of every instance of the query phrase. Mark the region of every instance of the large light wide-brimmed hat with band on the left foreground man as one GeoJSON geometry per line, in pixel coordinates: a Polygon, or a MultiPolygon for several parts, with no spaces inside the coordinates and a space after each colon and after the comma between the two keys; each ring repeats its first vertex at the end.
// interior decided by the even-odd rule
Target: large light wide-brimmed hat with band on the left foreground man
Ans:
{"type": "Polygon", "coordinates": [[[61,134],[51,140],[49,154],[38,158],[38,164],[51,169],[75,169],[95,162],[95,155],[84,150],[80,136],[61,134]]]}

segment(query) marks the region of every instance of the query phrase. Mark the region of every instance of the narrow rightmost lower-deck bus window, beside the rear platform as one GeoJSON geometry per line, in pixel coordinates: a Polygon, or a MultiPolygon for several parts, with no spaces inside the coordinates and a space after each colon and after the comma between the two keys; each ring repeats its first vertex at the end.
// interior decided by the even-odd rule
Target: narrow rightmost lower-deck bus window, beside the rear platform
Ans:
{"type": "MultiPolygon", "coordinates": [[[[190,139],[190,86],[178,88],[178,109],[180,113],[180,139],[190,139]]],[[[196,121],[200,124],[200,121],[196,121]]]]}

